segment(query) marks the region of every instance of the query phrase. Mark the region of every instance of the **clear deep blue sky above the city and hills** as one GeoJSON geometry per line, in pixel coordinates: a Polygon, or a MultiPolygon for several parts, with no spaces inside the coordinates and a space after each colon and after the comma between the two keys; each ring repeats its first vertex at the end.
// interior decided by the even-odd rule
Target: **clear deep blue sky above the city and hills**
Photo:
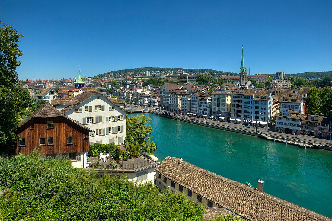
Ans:
{"type": "Polygon", "coordinates": [[[332,69],[331,1],[15,1],[0,21],[24,35],[20,79],[136,67],[238,73],[332,69]]]}

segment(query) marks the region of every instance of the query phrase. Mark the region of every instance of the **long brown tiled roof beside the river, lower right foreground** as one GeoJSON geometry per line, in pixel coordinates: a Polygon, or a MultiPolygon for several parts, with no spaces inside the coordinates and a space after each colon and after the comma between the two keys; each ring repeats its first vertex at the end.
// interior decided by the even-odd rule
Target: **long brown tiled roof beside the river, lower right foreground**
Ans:
{"type": "Polygon", "coordinates": [[[212,173],[179,158],[167,157],[155,169],[166,178],[251,221],[331,221],[253,187],[212,173]]]}

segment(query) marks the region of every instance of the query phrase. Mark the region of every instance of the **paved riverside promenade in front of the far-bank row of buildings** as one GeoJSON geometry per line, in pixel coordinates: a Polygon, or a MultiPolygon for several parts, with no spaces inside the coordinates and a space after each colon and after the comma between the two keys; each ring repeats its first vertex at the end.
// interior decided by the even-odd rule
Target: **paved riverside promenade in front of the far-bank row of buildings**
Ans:
{"type": "Polygon", "coordinates": [[[299,147],[305,148],[322,148],[326,150],[332,150],[332,147],[329,144],[329,140],[320,139],[315,137],[310,137],[307,135],[291,135],[291,134],[284,134],[271,131],[270,128],[245,128],[243,125],[240,124],[232,124],[229,122],[219,122],[219,121],[212,121],[212,120],[204,120],[200,118],[193,118],[186,115],[181,114],[174,114],[169,111],[158,110],[154,111],[153,109],[149,109],[149,113],[160,115],[163,117],[172,118],[175,120],[180,120],[192,124],[202,125],[206,127],[212,127],[221,130],[227,130],[247,135],[253,135],[257,137],[261,137],[271,141],[282,142],[286,144],[292,144],[299,147]],[[267,135],[267,130],[269,129],[269,133],[267,135]]]}

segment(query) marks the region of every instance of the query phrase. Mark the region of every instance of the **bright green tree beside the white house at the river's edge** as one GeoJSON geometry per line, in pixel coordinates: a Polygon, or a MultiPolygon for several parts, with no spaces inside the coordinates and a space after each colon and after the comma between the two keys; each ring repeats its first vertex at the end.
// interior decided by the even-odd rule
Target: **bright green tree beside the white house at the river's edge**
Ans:
{"type": "Polygon", "coordinates": [[[145,119],[144,115],[127,118],[127,136],[124,139],[124,144],[138,154],[142,151],[151,154],[157,149],[157,146],[151,141],[153,137],[152,127],[151,125],[146,126],[148,122],[151,123],[151,118],[145,119]]]}

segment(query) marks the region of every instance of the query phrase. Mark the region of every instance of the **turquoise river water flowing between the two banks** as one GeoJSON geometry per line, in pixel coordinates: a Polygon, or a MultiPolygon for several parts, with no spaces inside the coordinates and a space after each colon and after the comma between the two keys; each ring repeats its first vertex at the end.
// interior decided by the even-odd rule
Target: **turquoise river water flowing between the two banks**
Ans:
{"type": "MultiPolygon", "coordinates": [[[[142,113],[139,113],[142,114],[142,113]]],[[[151,113],[154,155],[183,160],[332,218],[332,151],[304,149],[151,113]]],[[[129,114],[128,116],[133,116],[129,114]]]]}

